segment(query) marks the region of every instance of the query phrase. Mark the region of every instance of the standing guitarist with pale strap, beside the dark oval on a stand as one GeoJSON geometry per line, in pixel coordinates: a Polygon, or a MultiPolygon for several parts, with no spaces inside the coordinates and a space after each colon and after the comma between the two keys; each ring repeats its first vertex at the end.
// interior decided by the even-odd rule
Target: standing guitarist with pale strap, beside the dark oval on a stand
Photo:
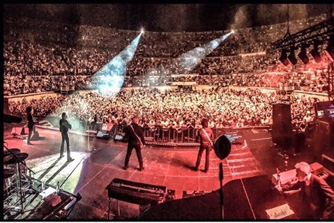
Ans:
{"type": "Polygon", "coordinates": [[[199,151],[197,155],[197,161],[195,167],[191,167],[193,171],[198,171],[199,164],[201,163],[202,153],[205,150],[205,169],[204,172],[208,172],[210,151],[213,148],[213,132],[211,128],[208,128],[208,120],[204,118],[202,120],[202,128],[198,130],[196,141],[199,142],[199,151]]]}

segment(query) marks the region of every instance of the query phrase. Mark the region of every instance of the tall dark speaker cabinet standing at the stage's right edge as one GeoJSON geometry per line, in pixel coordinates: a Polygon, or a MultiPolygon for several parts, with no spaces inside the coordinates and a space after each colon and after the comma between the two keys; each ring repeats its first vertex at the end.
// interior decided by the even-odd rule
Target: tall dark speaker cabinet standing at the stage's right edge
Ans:
{"type": "Polygon", "coordinates": [[[273,105],[273,142],[287,149],[292,143],[291,106],[289,104],[273,105]]]}

